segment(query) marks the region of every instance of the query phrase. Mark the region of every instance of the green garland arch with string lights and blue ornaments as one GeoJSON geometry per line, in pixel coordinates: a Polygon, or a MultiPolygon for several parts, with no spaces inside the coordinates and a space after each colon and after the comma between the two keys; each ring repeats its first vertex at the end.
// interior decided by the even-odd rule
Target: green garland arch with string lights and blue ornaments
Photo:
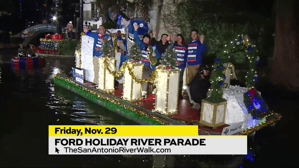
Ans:
{"type": "MultiPolygon", "coordinates": [[[[257,72],[255,70],[255,64],[257,58],[257,48],[249,44],[247,35],[238,35],[237,38],[231,41],[229,44],[224,45],[223,49],[217,53],[217,58],[212,66],[212,74],[210,77],[211,91],[210,97],[206,98],[207,101],[212,103],[220,103],[226,101],[222,95],[222,86],[226,79],[223,73],[226,68],[226,64],[231,62],[232,59],[240,60],[243,52],[246,56],[246,62],[249,64],[249,71],[245,76],[245,84],[247,88],[254,87],[254,82],[257,81],[257,72]],[[236,57],[236,58],[234,58],[236,57]]],[[[241,58],[242,59],[242,58],[241,58]]]]}

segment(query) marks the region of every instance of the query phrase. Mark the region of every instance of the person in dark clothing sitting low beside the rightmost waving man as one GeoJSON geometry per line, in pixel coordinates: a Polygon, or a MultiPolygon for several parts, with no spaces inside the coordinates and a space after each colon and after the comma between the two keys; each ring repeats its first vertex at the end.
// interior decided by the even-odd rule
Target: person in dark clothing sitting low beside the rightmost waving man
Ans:
{"type": "Polygon", "coordinates": [[[193,80],[188,84],[188,94],[190,98],[190,102],[194,104],[194,107],[199,109],[201,105],[201,100],[207,97],[207,92],[211,87],[211,83],[209,81],[210,71],[207,65],[201,65],[198,73],[195,75],[193,80]]]}

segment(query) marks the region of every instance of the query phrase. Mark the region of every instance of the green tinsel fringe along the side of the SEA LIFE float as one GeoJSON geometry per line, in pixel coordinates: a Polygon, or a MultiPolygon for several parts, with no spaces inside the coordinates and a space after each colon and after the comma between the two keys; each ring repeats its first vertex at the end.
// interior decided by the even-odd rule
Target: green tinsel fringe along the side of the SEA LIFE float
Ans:
{"type": "Polygon", "coordinates": [[[127,118],[131,118],[133,120],[141,120],[142,122],[145,122],[147,124],[153,124],[153,125],[166,125],[163,123],[160,123],[157,120],[153,120],[152,118],[146,117],[144,115],[141,115],[139,113],[136,113],[129,108],[125,108],[123,104],[115,104],[109,100],[103,99],[98,97],[96,94],[93,94],[89,91],[86,91],[85,89],[82,89],[81,87],[76,86],[75,83],[66,81],[64,79],[60,79],[59,77],[54,77],[54,82],[62,87],[69,88],[71,91],[76,91],[81,96],[88,98],[89,100],[98,103],[98,101],[101,102],[102,106],[107,108],[111,111],[119,110],[123,114],[123,116],[126,116],[127,118]]]}

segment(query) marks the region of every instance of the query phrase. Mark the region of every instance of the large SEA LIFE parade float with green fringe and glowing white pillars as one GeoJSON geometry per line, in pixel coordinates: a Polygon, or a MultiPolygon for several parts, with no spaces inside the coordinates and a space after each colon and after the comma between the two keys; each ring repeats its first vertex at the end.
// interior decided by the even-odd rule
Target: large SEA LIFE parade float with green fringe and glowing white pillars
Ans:
{"type": "MultiPolygon", "coordinates": [[[[281,115],[268,109],[260,92],[254,89],[258,57],[255,46],[247,42],[246,36],[239,35],[240,38],[225,46],[223,53],[217,54],[210,78],[210,92],[202,101],[201,109],[197,110],[192,108],[189,100],[178,97],[180,69],[171,63],[156,66],[147,79],[142,79],[143,63],[138,61],[136,54],[136,59],[127,60],[119,69],[116,68],[119,65],[115,61],[119,59],[116,56],[119,41],[125,41],[129,55],[136,50],[131,32],[134,30],[133,23],[142,24],[144,28],[138,31],[139,38],[150,31],[142,19],[127,21],[126,34],[110,34],[114,44],[114,54],[110,56],[104,53],[102,57],[93,57],[91,53],[95,39],[83,32],[73,75],[57,74],[54,77],[55,84],[139,124],[193,124],[198,125],[199,135],[249,135],[281,119],[281,115]],[[242,58],[248,62],[250,71],[246,76],[247,87],[230,86],[230,79],[235,77],[230,58],[242,58]],[[122,74],[123,83],[119,87],[111,87],[122,74]],[[142,99],[141,86],[145,82],[157,87],[154,99],[142,99]],[[107,84],[111,88],[106,87],[107,84]]],[[[162,60],[167,60],[166,57],[173,59],[171,52],[164,54],[162,60]]]]}

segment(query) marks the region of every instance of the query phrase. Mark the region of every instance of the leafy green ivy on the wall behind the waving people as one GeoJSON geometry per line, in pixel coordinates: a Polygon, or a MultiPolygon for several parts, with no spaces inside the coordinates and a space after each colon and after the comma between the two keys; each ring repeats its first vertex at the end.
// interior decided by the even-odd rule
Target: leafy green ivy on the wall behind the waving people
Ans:
{"type": "MultiPolygon", "coordinates": [[[[183,0],[176,3],[175,8],[171,5],[165,7],[166,10],[162,13],[164,25],[168,27],[167,31],[172,34],[182,33],[185,41],[190,41],[190,31],[197,29],[199,34],[205,35],[207,53],[204,56],[215,58],[215,54],[238,34],[248,34],[252,40],[251,44],[256,44],[262,53],[265,51],[264,45],[267,45],[264,41],[265,28],[267,33],[273,34],[271,27],[268,26],[271,20],[266,20],[257,13],[245,11],[241,7],[234,11],[228,2],[183,0]]],[[[270,53],[271,51],[267,51],[264,55],[269,56],[270,53]]]]}

